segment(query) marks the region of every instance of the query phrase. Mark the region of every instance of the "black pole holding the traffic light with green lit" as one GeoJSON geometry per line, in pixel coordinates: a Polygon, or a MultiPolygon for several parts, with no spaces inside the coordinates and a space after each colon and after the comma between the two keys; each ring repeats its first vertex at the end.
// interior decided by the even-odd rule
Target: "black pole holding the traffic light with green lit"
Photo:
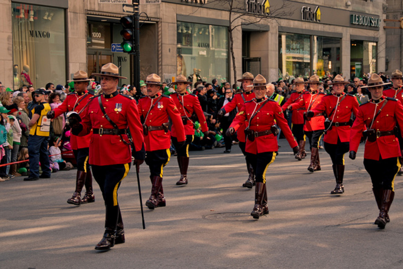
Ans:
{"type": "Polygon", "coordinates": [[[135,29],[134,52],[132,59],[131,81],[136,87],[136,91],[140,90],[140,16],[139,16],[139,0],[132,0],[134,7],[133,26],[135,29]]]}

